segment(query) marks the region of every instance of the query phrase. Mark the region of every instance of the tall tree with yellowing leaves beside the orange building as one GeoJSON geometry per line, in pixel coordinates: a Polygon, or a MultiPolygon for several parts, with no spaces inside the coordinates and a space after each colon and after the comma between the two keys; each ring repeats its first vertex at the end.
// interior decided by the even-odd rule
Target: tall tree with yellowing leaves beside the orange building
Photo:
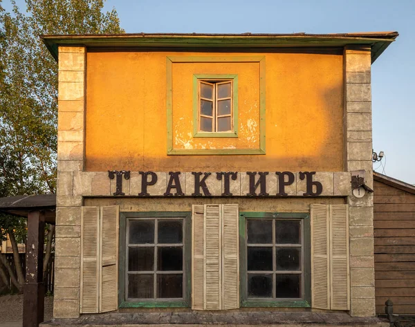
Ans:
{"type": "MultiPolygon", "coordinates": [[[[0,197],[53,194],[57,164],[57,64],[39,35],[124,30],[115,9],[103,12],[104,0],[25,0],[24,11],[15,0],[10,1],[12,12],[6,12],[0,0],[0,197]]],[[[0,230],[0,236],[9,234],[12,245],[26,239],[21,218],[0,214],[0,230]],[[16,234],[21,232],[19,239],[16,234]]],[[[54,230],[48,227],[46,249],[51,248],[54,230]]],[[[17,246],[13,246],[13,254],[17,266],[17,246]]],[[[47,258],[48,253],[44,268],[47,258]]],[[[7,267],[0,258],[1,278],[4,269],[7,267]]],[[[12,283],[21,289],[23,273],[18,271],[12,283]]]]}

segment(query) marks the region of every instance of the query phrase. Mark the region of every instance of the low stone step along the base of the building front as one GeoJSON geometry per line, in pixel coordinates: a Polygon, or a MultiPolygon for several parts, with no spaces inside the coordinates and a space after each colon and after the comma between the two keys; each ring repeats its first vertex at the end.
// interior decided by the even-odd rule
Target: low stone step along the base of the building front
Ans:
{"type": "Polygon", "coordinates": [[[53,319],[42,327],[389,327],[376,317],[350,317],[347,312],[140,312],[82,315],[77,319],[53,319]]]}

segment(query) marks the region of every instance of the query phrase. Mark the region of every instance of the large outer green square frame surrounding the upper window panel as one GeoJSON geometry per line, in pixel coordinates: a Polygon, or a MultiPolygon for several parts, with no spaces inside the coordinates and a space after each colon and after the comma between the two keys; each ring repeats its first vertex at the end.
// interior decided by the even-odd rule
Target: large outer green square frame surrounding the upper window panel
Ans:
{"type": "MultiPolygon", "coordinates": [[[[172,56],[166,57],[166,85],[167,85],[167,155],[189,155],[189,156],[205,156],[205,155],[252,155],[266,154],[265,145],[265,127],[266,127],[266,80],[265,80],[265,56],[172,56]],[[173,63],[194,63],[194,62],[257,62],[259,63],[259,148],[258,149],[174,149],[173,148],[173,104],[172,104],[172,65],[173,63]]],[[[194,82],[194,81],[193,81],[194,82]]],[[[194,88],[194,86],[193,86],[194,88]]],[[[197,96],[197,95],[196,95],[197,96]]],[[[194,99],[194,91],[193,91],[194,99]]],[[[193,100],[194,102],[194,100],[193,100]]],[[[194,104],[193,104],[194,106],[194,104]]],[[[197,104],[196,104],[197,106],[197,104]]],[[[194,108],[193,108],[194,114],[194,108]]],[[[193,117],[194,119],[194,117],[193,117]]],[[[193,122],[194,123],[194,122],[193,122]]],[[[197,125],[194,124],[194,127],[197,125]]],[[[235,124],[235,126],[237,126],[235,124]]],[[[194,132],[193,127],[193,132],[194,132]]],[[[216,132],[215,132],[216,134],[216,132]]],[[[225,133],[223,133],[225,134],[225,133]]],[[[233,134],[233,133],[232,133],[233,134]]],[[[212,136],[197,136],[212,137],[212,136]]],[[[214,136],[219,137],[219,136],[214,136]]],[[[222,136],[237,137],[237,136],[222,136]]]]}

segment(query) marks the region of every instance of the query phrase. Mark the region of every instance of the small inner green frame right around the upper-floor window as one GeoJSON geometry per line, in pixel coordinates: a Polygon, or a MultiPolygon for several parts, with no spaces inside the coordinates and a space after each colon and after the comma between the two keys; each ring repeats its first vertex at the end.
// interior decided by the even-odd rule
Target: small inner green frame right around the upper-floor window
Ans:
{"type": "MultiPolygon", "coordinates": [[[[207,81],[209,82],[209,81],[207,81]]],[[[238,137],[238,75],[237,74],[194,74],[193,75],[193,137],[194,138],[237,138],[238,137]],[[232,132],[203,132],[199,131],[199,80],[233,80],[232,110],[233,127],[232,132]]]]}

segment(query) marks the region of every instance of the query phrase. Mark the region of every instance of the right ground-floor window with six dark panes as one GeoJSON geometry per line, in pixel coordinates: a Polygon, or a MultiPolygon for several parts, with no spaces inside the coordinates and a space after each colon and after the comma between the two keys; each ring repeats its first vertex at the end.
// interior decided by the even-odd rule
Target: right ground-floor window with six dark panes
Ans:
{"type": "Polygon", "coordinates": [[[242,303],[309,306],[309,215],[246,212],[240,217],[242,303]]]}

